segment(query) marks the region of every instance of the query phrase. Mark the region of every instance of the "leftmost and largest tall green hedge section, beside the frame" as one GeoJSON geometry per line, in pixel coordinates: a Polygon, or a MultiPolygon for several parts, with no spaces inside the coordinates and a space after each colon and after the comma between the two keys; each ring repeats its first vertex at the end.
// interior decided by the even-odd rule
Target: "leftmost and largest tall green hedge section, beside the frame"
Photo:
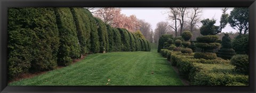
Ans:
{"type": "Polygon", "coordinates": [[[59,32],[53,8],[10,8],[7,28],[9,79],[57,66],[59,32]]]}

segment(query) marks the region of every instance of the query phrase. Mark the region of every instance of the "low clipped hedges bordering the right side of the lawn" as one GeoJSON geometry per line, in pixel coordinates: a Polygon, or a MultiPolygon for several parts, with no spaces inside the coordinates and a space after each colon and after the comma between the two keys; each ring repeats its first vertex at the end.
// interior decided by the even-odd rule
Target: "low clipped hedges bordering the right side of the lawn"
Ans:
{"type": "Polygon", "coordinates": [[[248,85],[249,58],[246,55],[234,56],[231,61],[215,58],[205,60],[194,58],[193,54],[183,54],[179,51],[161,49],[160,52],[173,66],[177,66],[182,77],[188,79],[191,85],[202,86],[233,86],[248,85]]]}

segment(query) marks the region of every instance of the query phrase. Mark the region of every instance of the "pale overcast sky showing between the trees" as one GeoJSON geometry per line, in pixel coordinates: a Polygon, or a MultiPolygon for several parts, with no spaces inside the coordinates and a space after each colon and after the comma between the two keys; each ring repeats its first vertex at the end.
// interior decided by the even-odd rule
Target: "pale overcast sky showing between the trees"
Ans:
{"type": "MultiPolygon", "coordinates": [[[[161,8],[161,7],[122,7],[121,13],[125,14],[126,16],[130,15],[136,15],[138,19],[145,20],[146,22],[151,24],[151,28],[153,31],[156,28],[156,24],[161,21],[169,21],[167,18],[167,14],[165,14],[168,9],[167,8],[161,8]]],[[[222,7],[207,7],[207,8],[201,8],[203,10],[201,20],[203,19],[217,19],[215,26],[220,25],[220,17],[222,14],[222,7]]],[[[227,13],[230,13],[234,8],[229,7],[227,13]]],[[[231,28],[229,24],[227,24],[226,28],[222,29],[222,32],[236,32],[235,29],[231,28]]]]}

